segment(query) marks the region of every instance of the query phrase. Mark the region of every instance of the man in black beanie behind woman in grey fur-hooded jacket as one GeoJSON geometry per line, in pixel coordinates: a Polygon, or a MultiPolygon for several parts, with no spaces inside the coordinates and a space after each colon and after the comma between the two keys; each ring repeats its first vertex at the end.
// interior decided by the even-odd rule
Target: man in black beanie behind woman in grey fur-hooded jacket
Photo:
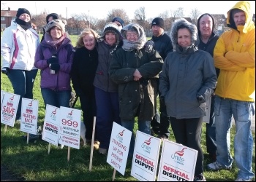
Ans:
{"type": "MultiPolygon", "coordinates": [[[[165,31],[165,21],[161,17],[156,17],[152,20],[152,41],[154,41],[154,50],[157,50],[159,55],[161,55],[162,60],[165,61],[165,58],[169,52],[173,51],[173,45],[170,41],[170,36],[168,36],[165,31]]],[[[157,79],[157,84],[159,84],[159,80],[157,79]]],[[[158,137],[161,139],[169,138],[170,131],[170,119],[166,114],[165,103],[162,100],[159,100],[160,105],[160,121],[159,114],[154,116],[154,119],[151,121],[151,135],[154,133],[158,134],[158,137]]]]}

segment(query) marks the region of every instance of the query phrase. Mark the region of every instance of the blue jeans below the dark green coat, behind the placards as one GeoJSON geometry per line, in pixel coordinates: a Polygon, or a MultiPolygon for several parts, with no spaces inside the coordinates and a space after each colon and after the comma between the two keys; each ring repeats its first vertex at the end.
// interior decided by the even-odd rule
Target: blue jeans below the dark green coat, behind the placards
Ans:
{"type": "MultiPolygon", "coordinates": [[[[150,123],[151,121],[138,121],[138,130],[140,132],[145,132],[150,135],[150,123]]],[[[135,135],[133,133],[133,128],[135,126],[135,120],[133,121],[121,121],[121,125],[127,130],[132,132],[131,143],[129,144],[129,157],[132,157],[133,151],[135,149],[135,135]]]]}

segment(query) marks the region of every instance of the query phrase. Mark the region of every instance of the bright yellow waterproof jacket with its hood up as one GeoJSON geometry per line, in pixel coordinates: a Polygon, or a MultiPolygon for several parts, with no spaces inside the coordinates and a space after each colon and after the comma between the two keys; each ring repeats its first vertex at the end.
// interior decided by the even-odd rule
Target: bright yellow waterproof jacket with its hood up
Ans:
{"type": "Polygon", "coordinates": [[[249,1],[238,3],[227,12],[230,31],[222,33],[214,48],[214,65],[220,69],[215,93],[222,98],[255,101],[255,25],[249,1]],[[245,25],[234,24],[232,9],[245,12],[245,25]],[[232,18],[232,20],[230,20],[232,18]]]}

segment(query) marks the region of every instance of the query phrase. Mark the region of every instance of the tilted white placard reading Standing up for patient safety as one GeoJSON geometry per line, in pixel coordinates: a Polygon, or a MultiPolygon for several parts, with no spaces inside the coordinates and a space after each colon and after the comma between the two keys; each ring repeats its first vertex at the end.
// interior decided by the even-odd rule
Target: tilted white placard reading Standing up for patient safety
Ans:
{"type": "Polygon", "coordinates": [[[124,175],[132,132],[113,122],[107,162],[124,175]]]}

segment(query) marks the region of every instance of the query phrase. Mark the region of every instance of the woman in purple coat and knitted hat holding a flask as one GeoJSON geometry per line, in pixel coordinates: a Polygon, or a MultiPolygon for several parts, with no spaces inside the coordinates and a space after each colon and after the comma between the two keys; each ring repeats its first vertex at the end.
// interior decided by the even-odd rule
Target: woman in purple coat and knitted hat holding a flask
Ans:
{"type": "Polygon", "coordinates": [[[45,39],[37,48],[34,62],[34,66],[41,70],[42,98],[45,106],[69,107],[74,49],[66,37],[62,20],[50,21],[45,31],[45,39]]]}

